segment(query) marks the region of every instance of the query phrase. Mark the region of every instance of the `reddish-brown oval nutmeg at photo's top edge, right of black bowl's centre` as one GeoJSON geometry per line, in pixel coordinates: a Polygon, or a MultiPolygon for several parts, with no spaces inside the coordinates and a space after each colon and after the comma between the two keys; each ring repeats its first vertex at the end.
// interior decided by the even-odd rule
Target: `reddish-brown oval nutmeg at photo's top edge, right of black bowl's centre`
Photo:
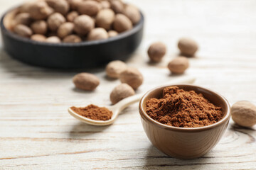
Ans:
{"type": "Polygon", "coordinates": [[[96,16],[100,11],[100,4],[97,1],[82,1],[78,5],[78,12],[88,16],[96,16]]]}

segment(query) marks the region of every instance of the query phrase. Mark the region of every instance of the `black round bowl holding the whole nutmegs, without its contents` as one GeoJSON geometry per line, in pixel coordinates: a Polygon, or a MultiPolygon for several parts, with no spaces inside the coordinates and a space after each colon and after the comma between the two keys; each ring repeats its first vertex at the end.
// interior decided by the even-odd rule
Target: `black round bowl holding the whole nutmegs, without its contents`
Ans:
{"type": "MultiPolygon", "coordinates": [[[[107,40],[79,43],[46,43],[22,38],[6,29],[1,18],[1,35],[4,50],[16,60],[27,64],[55,69],[88,69],[101,67],[112,60],[127,60],[142,42],[144,16],[132,30],[107,40]]],[[[9,18],[9,17],[6,17],[9,18]]]]}

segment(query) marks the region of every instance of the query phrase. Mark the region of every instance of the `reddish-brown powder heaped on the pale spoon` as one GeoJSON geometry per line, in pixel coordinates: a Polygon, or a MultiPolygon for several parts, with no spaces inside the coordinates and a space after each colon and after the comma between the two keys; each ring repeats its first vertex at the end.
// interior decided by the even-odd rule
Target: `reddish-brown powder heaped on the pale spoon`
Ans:
{"type": "Polygon", "coordinates": [[[110,120],[113,114],[112,111],[108,110],[107,108],[100,108],[95,105],[89,105],[85,108],[71,107],[71,109],[75,113],[92,120],[110,120]]]}

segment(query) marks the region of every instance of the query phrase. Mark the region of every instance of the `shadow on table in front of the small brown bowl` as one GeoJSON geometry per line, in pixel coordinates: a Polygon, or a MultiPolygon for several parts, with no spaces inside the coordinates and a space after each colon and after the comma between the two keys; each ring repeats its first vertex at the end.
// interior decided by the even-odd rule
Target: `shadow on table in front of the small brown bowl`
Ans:
{"type": "Polygon", "coordinates": [[[206,169],[211,159],[209,154],[198,159],[176,159],[160,152],[151,145],[146,154],[144,169],[206,169]]]}

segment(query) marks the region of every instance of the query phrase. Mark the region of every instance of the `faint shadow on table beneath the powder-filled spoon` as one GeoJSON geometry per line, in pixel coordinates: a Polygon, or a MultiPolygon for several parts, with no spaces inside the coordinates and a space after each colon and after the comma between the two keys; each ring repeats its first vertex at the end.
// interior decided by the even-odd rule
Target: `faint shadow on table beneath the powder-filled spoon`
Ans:
{"type": "Polygon", "coordinates": [[[78,123],[74,125],[73,128],[69,132],[70,138],[83,138],[93,135],[95,133],[103,132],[107,130],[108,126],[95,126],[95,125],[87,125],[85,123],[78,123]]]}

